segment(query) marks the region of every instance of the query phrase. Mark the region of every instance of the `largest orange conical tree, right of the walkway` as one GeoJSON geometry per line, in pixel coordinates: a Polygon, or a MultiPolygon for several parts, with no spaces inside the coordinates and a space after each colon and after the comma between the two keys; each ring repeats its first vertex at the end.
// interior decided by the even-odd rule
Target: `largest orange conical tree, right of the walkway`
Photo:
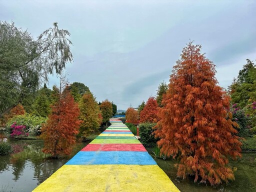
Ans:
{"type": "Polygon", "coordinates": [[[156,125],[160,152],[178,156],[177,176],[211,185],[234,179],[228,156],[241,157],[229,96],[215,79],[215,65],[189,42],[173,66],[156,125]]]}

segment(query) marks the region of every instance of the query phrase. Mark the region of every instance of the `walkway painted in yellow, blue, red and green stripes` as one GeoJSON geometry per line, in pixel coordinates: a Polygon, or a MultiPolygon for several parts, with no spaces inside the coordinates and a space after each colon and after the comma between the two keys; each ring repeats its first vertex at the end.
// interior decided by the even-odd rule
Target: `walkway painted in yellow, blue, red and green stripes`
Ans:
{"type": "Polygon", "coordinates": [[[120,120],[33,191],[179,191],[120,120]]]}

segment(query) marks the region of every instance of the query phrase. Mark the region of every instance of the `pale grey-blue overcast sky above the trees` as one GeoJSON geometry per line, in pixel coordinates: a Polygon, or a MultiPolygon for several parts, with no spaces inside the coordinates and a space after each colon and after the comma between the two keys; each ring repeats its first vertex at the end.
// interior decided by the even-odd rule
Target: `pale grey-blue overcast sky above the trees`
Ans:
{"type": "Polygon", "coordinates": [[[168,83],[189,39],[202,45],[226,88],[246,58],[256,59],[255,10],[256,0],[0,0],[0,20],[34,38],[53,22],[67,29],[69,82],[84,83],[117,109],[137,107],[168,83]]]}

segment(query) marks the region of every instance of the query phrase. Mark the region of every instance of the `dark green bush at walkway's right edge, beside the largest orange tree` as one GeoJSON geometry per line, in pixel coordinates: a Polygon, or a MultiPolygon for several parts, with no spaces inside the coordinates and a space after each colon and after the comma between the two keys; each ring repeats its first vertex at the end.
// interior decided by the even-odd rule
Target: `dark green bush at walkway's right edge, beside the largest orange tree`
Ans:
{"type": "Polygon", "coordinates": [[[145,146],[154,146],[157,139],[154,138],[152,135],[153,129],[152,127],[155,126],[155,123],[141,123],[139,124],[139,136],[140,142],[145,146]]]}

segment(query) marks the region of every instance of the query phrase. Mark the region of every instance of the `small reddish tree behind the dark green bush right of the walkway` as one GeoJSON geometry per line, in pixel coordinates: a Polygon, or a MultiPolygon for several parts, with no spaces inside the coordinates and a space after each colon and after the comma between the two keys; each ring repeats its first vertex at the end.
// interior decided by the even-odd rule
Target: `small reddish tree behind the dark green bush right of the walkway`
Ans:
{"type": "Polygon", "coordinates": [[[146,101],[144,108],[139,113],[139,123],[143,122],[157,122],[159,120],[157,116],[158,104],[153,96],[150,96],[146,101]]]}

